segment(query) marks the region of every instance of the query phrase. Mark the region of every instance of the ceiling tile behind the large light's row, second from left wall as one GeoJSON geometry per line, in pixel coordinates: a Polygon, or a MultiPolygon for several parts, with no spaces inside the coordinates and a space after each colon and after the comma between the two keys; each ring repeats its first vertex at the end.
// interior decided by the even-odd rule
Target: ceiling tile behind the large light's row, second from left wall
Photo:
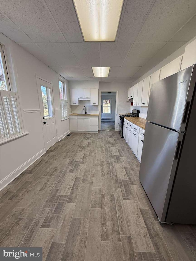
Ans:
{"type": "Polygon", "coordinates": [[[68,43],[38,43],[38,45],[54,59],[58,66],[79,66],[68,43]]]}

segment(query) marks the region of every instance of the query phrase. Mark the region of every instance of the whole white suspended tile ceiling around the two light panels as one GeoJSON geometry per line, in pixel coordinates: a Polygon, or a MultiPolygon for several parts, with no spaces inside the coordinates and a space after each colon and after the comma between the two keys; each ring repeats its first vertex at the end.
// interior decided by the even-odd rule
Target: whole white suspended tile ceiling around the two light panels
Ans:
{"type": "Polygon", "coordinates": [[[67,80],[132,82],[196,35],[196,1],[125,0],[116,42],[84,43],[72,0],[1,0],[0,32],[67,80]]]}

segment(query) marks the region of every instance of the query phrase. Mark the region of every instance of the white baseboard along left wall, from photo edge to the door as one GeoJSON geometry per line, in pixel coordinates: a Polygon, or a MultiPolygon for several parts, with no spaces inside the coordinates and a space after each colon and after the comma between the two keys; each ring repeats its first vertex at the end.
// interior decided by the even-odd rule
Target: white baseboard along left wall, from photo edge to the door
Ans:
{"type": "Polygon", "coordinates": [[[46,153],[46,149],[44,148],[32,158],[28,159],[25,163],[19,166],[16,170],[10,173],[7,177],[0,181],[0,191],[5,188],[10,182],[12,182],[16,177],[18,177],[24,170],[26,170],[33,162],[35,162],[38,158],[40,158],[44,153],[46,153]]]}

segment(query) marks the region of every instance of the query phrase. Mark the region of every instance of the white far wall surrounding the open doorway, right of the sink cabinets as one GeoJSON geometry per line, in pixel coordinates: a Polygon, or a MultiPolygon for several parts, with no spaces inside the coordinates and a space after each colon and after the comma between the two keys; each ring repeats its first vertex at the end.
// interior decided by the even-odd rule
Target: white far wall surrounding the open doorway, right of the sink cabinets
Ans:
{"type": "MultiPolygon", "coordinates": [[[[119,114],[120,113],[128,113],[130,112],[130,103],[126,103],[128,97],[128,89],[132,86],[132,83],[110,83],[110,82],[100,82],[99,83],[99,104],[100,104],[100,111],[101,111],[101,91],[106,92],[113,92],[118,91],[118,110],[116,115],[116,128],[119,128],[119,114]]],[[[101,115],[100,115],[101,117],[101,115]]],[[[99,129],[100,129],[100,122],[99,121],[99,129]]]]}

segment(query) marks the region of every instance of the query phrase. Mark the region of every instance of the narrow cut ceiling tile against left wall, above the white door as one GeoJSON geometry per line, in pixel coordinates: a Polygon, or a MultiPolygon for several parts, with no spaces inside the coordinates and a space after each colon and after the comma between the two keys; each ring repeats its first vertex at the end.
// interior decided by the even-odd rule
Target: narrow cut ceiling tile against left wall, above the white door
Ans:
{"type": "Polygon", "coordinates": [[[19,43],[26,51],[48,66],[58,66],[52,57],[47,55],[36,43],[19,43]]]}

